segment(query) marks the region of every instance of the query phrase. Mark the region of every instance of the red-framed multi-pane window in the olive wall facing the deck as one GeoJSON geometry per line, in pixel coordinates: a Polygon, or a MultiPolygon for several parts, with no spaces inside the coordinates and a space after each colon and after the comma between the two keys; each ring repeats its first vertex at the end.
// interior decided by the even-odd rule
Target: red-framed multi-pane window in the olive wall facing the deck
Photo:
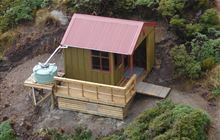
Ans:
{"type": "Polygon", "coordinates": [[[109,71],[109,53],[92,51],[92,68],[109,71]]]}

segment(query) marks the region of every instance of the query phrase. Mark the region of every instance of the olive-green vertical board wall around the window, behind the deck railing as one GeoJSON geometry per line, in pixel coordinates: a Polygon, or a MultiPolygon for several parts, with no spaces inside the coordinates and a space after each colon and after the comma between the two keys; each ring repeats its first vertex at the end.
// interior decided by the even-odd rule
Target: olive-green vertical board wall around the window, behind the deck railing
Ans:
{"type": "MultiPolygon", "coordinates": [[[[110,57],[112,63],[112,57],[110,57]]],[[[111,73],[92,69],[91,51],[80,48],[69,47],[64,50],[65,77],[71,79],[85,80],[102,84],[114,84],[111,73]]],[[[110,65],[111,66],[111,65],[110,65]]]]}

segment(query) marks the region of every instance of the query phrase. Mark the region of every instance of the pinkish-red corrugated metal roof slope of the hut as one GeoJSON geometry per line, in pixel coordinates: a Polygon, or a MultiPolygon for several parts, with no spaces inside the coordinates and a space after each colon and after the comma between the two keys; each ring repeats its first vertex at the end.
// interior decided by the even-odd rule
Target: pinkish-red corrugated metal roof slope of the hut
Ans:
{"type": "MultiPolygon", "coordinates": [[[[132,54],[142,21],[74,14],[61,45],[119,54],[132,54]]],[[[154,26],[154,22],[152,22],[154,26]]]]}

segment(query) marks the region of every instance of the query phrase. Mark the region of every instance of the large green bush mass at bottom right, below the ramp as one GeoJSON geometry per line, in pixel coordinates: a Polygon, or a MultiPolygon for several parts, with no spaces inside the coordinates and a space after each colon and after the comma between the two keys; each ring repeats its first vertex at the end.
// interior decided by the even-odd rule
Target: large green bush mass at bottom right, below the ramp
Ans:
{"type": "Polygon", "coordinates": [[[101,140],[206,140],[209,123],[205,112],[165,100],[142,113],[119,134],[101,140]]]}

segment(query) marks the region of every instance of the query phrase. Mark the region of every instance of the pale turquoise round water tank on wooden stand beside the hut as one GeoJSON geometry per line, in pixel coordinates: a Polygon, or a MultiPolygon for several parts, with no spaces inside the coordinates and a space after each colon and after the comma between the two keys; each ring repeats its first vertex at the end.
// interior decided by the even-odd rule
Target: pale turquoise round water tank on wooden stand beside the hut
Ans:
{"type": "Polygon", "coordinates": [[[33,68],[34,80],[39,84],[49,84],[54,81],[54,76],[57,75],[56,64],[37,64],[33,68]]]}

